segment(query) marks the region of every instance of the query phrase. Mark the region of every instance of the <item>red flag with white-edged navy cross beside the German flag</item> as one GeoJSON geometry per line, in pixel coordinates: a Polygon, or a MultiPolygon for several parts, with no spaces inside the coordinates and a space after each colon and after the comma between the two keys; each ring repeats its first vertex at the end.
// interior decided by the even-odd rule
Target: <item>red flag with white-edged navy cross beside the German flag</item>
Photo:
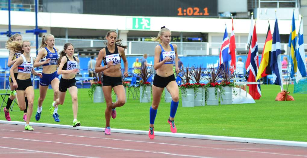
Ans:
{"type": "Polygon", "coordinates": [[[249,86],[249,94],[254,99],[260,99],[261,90],[260,90],[260,80],[256,80],[258,73],[258,42],[257,42],[257,33],[256,33],[256,22],[253,32],[253,37],[251,41],[251,62],[250,62],[250,71],[247,81],[249,82],[259,82],[257,85],[248,85],[249,86]]]}

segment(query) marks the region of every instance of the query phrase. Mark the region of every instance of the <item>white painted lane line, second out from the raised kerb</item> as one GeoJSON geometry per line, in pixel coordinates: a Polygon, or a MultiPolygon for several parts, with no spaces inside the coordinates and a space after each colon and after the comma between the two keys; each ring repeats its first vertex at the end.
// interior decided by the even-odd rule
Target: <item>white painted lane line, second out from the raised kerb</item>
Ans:
{"type": "MultiPolygon", "coordinates": [[[[80,146],[97,147],[97,148],[107,148],[107,149],[117,149],[117,150],[126,150],[126,151],[149,152],[149,153],[158,153],[158,154],[174,155],[174,156],[198,157],[198,158],[213,158],[213,157],[207,157],[207,156],[174,154],[174,153],[169,153],[169,152],[155,152],[155,151],[138,150],[138,149],[113,148],[113,147],[108,147],[108,146],[87,145],[87,144],[75,144],[75,143],[64,143],[64,142],[56,142],[56,141],[41,141],[41,140],[34,140],[34,139],[15,138],[15,137],[0,137],[0,138],[19,139],[19,140],[26,140],[26,141],[39,141],[39,142],[58,143],[58,144],[68,144],[68,145],[80,145],[80,146]]],[[[33,151],[34,151],[34,150],[33,150],[33,151]]],[[[68,155],[69,155],[69,154],[68,154],[68,155]]]]}

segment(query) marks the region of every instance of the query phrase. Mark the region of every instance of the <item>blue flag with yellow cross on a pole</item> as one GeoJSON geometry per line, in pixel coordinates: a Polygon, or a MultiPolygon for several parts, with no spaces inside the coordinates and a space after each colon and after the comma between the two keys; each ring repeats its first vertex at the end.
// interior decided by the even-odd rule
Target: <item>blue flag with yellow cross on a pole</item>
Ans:
{"type": "Polygon", "coordinates": [[[297,61],[296,61],[296,55],[295,55],[296,40],[297,40],[297,37],[296,37],[296,32],[295,32],[295,21],[294,21],[294,11],[293,11],[291,33],[289,36],[289,44],[288,44],[288,46],[290,47],[290,53],[291,53],[291,58],[292,58],[292,66],[291,66],[291,73],[290,73],[291,78],[294,77],[294,74],[297,71],[297,61]]]}

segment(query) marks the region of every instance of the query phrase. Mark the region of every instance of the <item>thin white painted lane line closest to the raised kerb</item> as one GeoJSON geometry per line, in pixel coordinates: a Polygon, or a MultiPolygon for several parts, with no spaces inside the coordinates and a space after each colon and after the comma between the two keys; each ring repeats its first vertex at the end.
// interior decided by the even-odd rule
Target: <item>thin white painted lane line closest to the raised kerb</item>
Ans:
{"type": "MultiPolygon", "coordinates": [[[[17,132],[32,132],[39,134],[53,134],[53,133],[43,133],[43,132],[33,132],[33,131],[20,131],[20,130],[7,130],[7,131],[17,131],[17,132]]],[[[53,134],[54,135],[54,134],[53,134]]],[[[195,145],[181,145],[181,144],[171,144],[171,143],[157,143],[150,141],[134,141],[134,140],[124,140],[124,139],[114,139],[114,138],[102,138],[102,137],[87,137],[87,136],[79,136],[79,135],[70,135],[70,134],[56,134],[56,135],[64,135],[64,136],[72,136],[72,137],[85,137],[85,138],[95,138],[95,139],[107,139],[107,140],[115,140],[115,141],[131,141],[138,143],[150,143],[150,144],[161,144],[161,145],[174,145],[174,146],[184,146],[184,147],[193,147],[193,148],[204,148],[204,149],[218,149],[218,150],[229,150],[229,151],[240,151],[240,152],[256,152],[256,153],[265,153],[265,154],[274,154],[274,155],[286,155],[286,156],[301,156],[307,157],[307,155],[294,155],[294,154],[283,154],[277,152],[260,152],[260,151],[252,151],[252,150],[244,150],[244,149],[225,149],[225,148],[213,148],[213,147],[204,147],[204,146],[195,146],[195,145]]],[[[302,147],[304,149],[304,147],[302,147]]],[[[263,149],[263,148],[259,148],[263,149]]]]}

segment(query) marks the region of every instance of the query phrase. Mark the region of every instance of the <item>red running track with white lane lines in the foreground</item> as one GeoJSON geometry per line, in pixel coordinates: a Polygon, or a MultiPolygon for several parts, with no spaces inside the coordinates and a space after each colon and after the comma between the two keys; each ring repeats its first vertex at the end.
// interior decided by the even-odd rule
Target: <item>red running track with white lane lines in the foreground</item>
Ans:
{"type": "MultiPolygon", "coordinates": [[[[0,157],[307,157],[307,148],[0,124],[0,157]]],[[[111,131],[112,132],[112,131],[111,131]]]]}

